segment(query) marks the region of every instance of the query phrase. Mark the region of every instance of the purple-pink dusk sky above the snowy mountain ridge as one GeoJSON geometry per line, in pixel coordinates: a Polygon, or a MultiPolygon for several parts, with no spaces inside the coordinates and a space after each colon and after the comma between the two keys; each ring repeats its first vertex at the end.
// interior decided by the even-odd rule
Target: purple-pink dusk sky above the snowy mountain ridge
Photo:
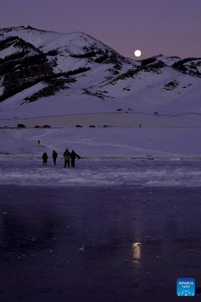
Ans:
{"type": "Polygon", "coordinates": [[[125,57],[201,57],[201,0],[6,0],[0,28],[82,31],[125,57]]]}

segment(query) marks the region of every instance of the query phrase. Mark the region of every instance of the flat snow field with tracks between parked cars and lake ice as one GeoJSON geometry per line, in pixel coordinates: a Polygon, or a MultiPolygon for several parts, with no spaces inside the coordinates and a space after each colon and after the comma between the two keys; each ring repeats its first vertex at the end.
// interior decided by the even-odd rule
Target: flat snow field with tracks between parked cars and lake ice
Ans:
{"type": "MultiPolygon", "coordinates": [[[[92,120],[90,124],[93,124],[92,120]]],[[[0,154],[2,157],[38,158],[38,156],[42,157],[44,151],[50,156],[53,150],[56,150],[59,156],[63,156],[63,152],[68,148],[81,157],[197,159],[200,158],[201,150],[200,134],[200,128],[139,128],[139,126],[2,128],[0,129],[0,154]]]]}

